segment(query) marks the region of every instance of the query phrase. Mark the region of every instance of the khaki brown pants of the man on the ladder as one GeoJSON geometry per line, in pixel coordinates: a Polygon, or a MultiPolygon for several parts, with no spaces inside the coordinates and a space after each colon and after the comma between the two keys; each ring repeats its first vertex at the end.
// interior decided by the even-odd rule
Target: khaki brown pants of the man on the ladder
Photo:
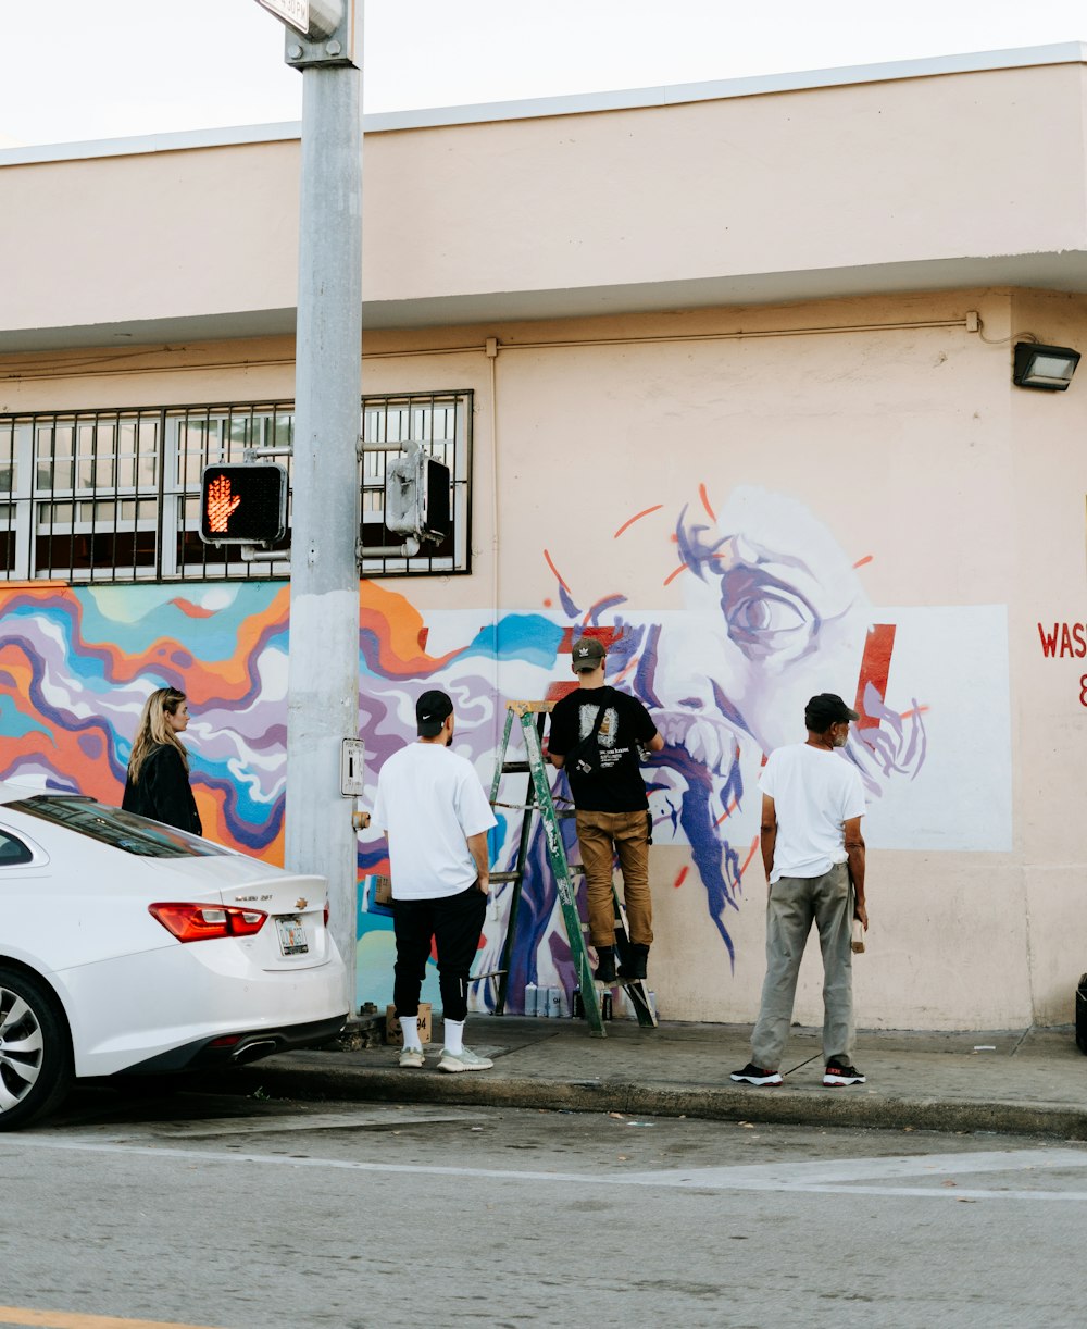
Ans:
{"type": "Polygon", "coordinates": [[[615,855],[623,873],[627,928],[635,946],[652,945],[650,900],[650,829],[643,812],[581,812],[574,816],[589,901],[589,938],[594,946],[615,945],[611,873],[615,855]]]}

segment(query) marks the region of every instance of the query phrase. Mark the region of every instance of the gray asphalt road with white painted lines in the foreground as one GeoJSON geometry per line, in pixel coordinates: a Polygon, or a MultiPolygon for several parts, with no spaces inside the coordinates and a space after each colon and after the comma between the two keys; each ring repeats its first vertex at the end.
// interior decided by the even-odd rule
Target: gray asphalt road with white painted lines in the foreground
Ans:
{"type": "Polygon", "coordinates": [[[0,1170],[0,1325],[1087,1321],[1062,1142],[81,1090],[0,1170]]]}

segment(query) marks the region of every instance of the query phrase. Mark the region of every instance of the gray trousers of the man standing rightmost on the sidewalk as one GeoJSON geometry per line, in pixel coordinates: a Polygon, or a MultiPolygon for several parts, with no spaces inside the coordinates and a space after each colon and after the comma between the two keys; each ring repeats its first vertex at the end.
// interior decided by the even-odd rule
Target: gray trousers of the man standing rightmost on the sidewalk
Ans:
{"type": "Polygon", "coordinates": [[[796,979],[812,922],[823,949],[823,1058],[853,1059],[853,900],[849,872],[835,864],[821,877],[780,877],[767,901],[767,977],[751,1059],[767,1071],[781,1066],[789,1037],[796,979]]]}

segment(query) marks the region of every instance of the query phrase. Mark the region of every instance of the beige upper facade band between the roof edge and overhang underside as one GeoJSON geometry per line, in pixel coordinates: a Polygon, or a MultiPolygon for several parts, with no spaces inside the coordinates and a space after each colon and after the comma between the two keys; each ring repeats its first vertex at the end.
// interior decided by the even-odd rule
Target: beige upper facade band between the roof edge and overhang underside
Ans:
{"type": "MultiPolygon", "coordinates": [[[[1084,288],[1084,65],[1055,49],[372,128],[365,327],[1084,288]]],[[[3,343],[291,332],[298,141],[238,140],[0,152],[3,343]]]]}

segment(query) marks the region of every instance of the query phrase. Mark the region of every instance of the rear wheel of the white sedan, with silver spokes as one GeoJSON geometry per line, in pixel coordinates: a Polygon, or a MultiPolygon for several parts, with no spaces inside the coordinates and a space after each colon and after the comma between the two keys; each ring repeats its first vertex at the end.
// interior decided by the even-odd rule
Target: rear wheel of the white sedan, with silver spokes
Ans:
{"type": "Polygon", "coordinates": [[[72,1087],[72,1045],[45,985],[0,966],[0,1131],[56,1108],[72,1087]]]}

